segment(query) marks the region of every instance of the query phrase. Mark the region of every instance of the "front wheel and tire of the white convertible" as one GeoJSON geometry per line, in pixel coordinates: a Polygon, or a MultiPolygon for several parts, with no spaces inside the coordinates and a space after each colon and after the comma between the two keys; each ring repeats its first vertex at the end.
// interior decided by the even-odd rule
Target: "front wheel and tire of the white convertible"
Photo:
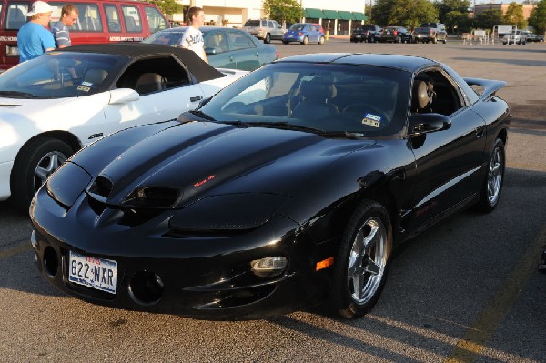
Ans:
{"type": "Polygon", "coordinates": [[[15,209],[28,213],[38,188],[73,153],[64,141],[53,137],[36,137],[23,146],[15,158],[11,175],[11,199],[15,209]]]}

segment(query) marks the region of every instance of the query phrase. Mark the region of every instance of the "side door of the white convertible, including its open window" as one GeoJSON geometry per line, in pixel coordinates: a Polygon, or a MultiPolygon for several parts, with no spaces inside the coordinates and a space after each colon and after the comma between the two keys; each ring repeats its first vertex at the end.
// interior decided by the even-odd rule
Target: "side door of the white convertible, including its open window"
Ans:
{"type": "Polygon", "coordinates": [[[129,100],[111,102],[105,107],[108,134],[177,118],[180,113],[197,108],[206,96],[201,86],[190,82],[186,69],[169,55],[137,60],[118,77],[116,87],[110,91],[112,99],[126,92],[123,88],[136,90],[139,96],[133,100],[126,96],[129,100]],[[140,82],[144,78],[151,80],[149,85],[140,82]]]}

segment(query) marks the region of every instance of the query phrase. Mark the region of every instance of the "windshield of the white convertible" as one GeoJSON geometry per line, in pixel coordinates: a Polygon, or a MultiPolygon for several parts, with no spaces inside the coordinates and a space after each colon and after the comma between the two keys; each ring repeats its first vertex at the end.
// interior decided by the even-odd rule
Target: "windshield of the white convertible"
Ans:
{"type": "Polygon", "coordinates": [[[0,97],[62,98],[104,92],[126,57],[52,52],[15,66],[0,76],[0,97]]]}

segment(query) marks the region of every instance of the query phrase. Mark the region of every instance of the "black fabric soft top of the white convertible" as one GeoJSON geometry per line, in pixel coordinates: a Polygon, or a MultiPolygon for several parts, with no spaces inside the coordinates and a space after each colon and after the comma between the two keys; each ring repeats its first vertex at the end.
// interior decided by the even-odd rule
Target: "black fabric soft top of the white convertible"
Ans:
{"type": "Polygon", "coordinates": [[[130,59],[153,57],[157,55],[173,55],[197,78],[204,82],[224,76],[213,66],[207,65],[193,51],[165,45],[145,43],[107,43],[95,45],[73,45],[58,49],[58,52],[102,53],[111,55],[123,55],[130,59]]]}

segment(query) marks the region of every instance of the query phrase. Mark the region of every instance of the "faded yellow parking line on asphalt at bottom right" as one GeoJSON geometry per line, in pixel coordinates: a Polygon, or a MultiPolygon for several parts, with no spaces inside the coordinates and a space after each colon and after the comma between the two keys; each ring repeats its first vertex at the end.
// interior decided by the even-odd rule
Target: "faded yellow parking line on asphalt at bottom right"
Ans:
{"type": "Polygon", "coordinates": [[[481,350],[486,347],[488,340],[510,311],[523,287],[527,285],[531,275],[537,270],[541,247],[544,244],[546,244],[546,225],[541,227],[531,246],[512,267],[490,303],[481,309],[464,337],[460,338],[457,347],[453,348],[450,356],[446,358],[446,363],[469,363],[478,358],[481,350]]]}

